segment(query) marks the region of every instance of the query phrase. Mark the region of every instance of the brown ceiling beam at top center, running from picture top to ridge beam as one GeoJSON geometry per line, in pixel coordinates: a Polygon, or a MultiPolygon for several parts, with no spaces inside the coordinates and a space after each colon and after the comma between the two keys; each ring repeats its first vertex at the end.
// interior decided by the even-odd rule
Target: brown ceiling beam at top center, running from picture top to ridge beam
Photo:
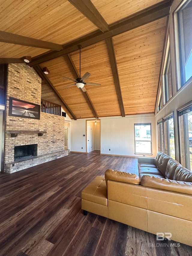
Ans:
{"type": "Polygon", "coordinates": [[[109,31],[109,26],[90,0],[68,0],[76,9],[88,18],[102,32],[109,31]]]}

